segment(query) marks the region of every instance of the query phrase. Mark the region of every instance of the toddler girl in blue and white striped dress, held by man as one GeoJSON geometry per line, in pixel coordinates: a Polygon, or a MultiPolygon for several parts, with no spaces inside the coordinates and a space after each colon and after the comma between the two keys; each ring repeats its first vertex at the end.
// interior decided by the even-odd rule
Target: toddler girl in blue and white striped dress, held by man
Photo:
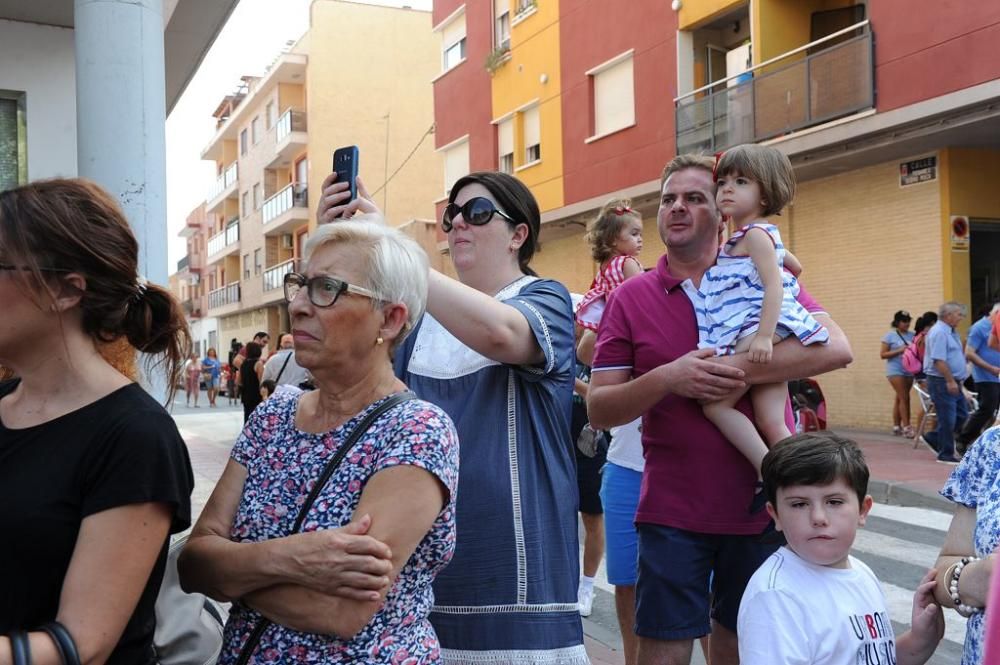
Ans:
{"type": "MultiPolygon", "coordinates": [[[[763,219],[780,213],[795,193],[788,158],[774,148],[741,145],[718,157],[714,175],[719,211],[737,230],[701,283],[683,284],[698,319],[699,348],[714,348],[718,355],[747,351],[750,362],[767,363],[773,344],[786,337],[794,335],[803,344],[827,342],[829,332],[796,300],[801,264],[781,244],[778,227],[763,219]]],[[[750,510],[758,512],[767,502],[761,460],[769,445],[791,436],[785,424],[788,387],[769,383],[749,390],[756,426],[736,409],[742,393],[702,408],[757,470],[750,510]]]]}

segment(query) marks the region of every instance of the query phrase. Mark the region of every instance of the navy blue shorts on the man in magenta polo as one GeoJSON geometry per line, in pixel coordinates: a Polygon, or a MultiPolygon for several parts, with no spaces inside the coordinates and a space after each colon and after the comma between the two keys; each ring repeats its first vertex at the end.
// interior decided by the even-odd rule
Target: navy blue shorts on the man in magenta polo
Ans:
{"type": "Polygon", "coordinates": [[[747,582],[778,549],[759,542],[760,536],[695,533],[659,524],[639,524],[638,533],[635,632],[656,640],[707,635],[710,618],[735,633],[747,582]]]}

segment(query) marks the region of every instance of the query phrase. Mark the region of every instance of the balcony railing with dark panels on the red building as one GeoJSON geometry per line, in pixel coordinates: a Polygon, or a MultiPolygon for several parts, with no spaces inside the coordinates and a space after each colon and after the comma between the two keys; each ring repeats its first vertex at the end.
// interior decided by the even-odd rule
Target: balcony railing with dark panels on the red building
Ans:
{"type": "Polygon", "coordinates": [[[677,152],[711,154],[871,108],[874,80],[861,21],[675,99],[677,152]]]}

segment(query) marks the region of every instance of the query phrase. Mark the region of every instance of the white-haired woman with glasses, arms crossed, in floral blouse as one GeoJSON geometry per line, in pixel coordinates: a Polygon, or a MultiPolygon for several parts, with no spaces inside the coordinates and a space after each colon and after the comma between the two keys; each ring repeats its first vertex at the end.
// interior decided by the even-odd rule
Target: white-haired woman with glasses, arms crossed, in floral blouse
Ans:
{"type": "Polygon", "coordinates": [[[458,441],[391,363],[424,311],[427,257],[380,219],[324,226],[305,253],[285,297],[316,390],[250,417],[181,583],[233,601],[221,664],[438,663],[428,614],[455,547],[458,441]]]}

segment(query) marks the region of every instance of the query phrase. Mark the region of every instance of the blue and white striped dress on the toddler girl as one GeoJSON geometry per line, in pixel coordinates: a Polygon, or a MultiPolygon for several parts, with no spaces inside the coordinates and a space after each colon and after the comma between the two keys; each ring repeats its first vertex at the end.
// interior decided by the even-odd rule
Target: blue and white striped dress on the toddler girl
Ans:
{"type": "Polygon", "coordinates": [[[726,241],[719,249],[715,265],[705,271],[699,286],[690,279],[681,285],[698,319],[698,348],[715,349],[720,356],[729,355],[741,339],[755,334],[760,327],[764,301],[760,274],[749,255],[731,253],[736,243],[754,228],[765,231],[774,243],[784,283],[776,334],[782,338],[794,335],[803,344],[829,341],[829,331],[796,300],[799,283],[783,268],[785,246],[781,244],[778,227],[759,222],[744,226],[726,241]]]}

